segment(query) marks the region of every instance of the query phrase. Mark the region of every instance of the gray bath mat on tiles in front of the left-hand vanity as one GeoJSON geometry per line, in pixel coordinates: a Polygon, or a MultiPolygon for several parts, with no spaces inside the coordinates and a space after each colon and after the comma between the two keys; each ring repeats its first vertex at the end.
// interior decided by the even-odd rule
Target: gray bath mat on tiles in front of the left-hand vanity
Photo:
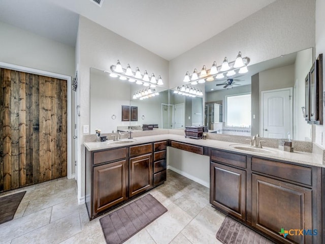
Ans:
{"type": "Polygon", "coordinates": [[[119,244],[139,232],[159,216],[164,207],[150,194],[100,219],[107,244],[119,244]]]}

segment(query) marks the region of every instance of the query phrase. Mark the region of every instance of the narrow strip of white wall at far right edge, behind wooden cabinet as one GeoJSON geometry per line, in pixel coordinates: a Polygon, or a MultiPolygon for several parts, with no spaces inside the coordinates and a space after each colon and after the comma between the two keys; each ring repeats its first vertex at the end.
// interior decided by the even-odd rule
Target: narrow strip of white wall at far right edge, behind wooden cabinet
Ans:
{"type": "MultiPolygon", "coordinates": [[[[315,28],[315,42],[316,42],[316,57],[318,54],[322,53],[323,58],[325,57],[325,1],[324,0],[316,0],[316,28],[315,28]]],[[[325,91],[325,65],[323,62],[323,91],[325,91]]],[[[323,118],[325,118],[325,110],[323,107],[323,118]]],[[[323,119],[323,121],[325,121],[323,119]]],[[[325,145],[325,129],[323,126],[315,126],[315,142],[318,145],[324,147],[325,145]]]]}

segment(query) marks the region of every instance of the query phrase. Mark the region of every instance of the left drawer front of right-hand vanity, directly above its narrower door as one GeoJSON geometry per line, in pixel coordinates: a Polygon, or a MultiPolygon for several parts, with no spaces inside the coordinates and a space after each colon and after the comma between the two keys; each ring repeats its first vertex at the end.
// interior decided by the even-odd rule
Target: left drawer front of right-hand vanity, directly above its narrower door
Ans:
{"type": "Polygon", "coordinates": [[[220,150],[211,150],[211,160],[215,162],[221,162],[241,168],[246,168],[246,156],[226,153],[225,151],[220,150]]]}

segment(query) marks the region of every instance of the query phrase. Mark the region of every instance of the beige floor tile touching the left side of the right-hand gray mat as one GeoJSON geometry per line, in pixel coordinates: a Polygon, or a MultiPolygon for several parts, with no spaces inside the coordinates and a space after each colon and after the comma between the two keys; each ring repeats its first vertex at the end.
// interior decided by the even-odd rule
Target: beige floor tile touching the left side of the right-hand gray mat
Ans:
{"type": "Polygon", "coordinates": [[[192,243],[220,243],[215,236],[224,218],[225,215],[208,205],[181,233],[192,243]]]}

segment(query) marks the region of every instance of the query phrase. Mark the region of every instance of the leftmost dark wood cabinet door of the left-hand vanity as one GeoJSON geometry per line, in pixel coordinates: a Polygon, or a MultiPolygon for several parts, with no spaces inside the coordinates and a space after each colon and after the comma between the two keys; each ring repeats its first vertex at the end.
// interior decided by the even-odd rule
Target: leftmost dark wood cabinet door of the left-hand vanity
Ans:
{"type": "Polygon", "coordinates": [[[94,213],[127,199],[126,160],[93,167],[94,213]]]}

